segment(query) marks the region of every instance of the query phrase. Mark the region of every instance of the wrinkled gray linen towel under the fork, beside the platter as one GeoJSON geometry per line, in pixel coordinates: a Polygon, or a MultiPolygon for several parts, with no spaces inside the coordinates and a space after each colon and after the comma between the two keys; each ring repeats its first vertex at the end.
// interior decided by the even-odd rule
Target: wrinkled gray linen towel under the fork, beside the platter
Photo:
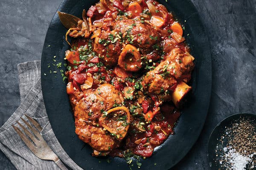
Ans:
{"type": "Polygon", "coordinates": [[[40,61],[18,64],[21,104],[0,128],[0,149],[18,170],[60,170],[54,161],[42,160],[35,156],[11,126],[17,125],[17,121],[21,122],[20,117],[25,113],[43,127],[41,135],[61,161],[73,170],[82,170],[70,159],[52,131],[44,107],[40,71],[40,61]]]}

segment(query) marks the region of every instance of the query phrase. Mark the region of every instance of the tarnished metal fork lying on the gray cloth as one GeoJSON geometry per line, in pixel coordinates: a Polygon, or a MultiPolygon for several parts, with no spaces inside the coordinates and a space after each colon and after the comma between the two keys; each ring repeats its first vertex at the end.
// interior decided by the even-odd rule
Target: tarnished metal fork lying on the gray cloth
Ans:
{"type": "Polygon", "coordinates": [[[31,126],[29,122],[26,122],[23,118],[20,118],[26,125],[29,127],[29,129],[34,133],[29,132],[26,127],[20,124],[20,122],[17,122],[18,125],[23,129],[23,131],[26,133],[27,136],[31,140],[29,140],[26,135],[16,126],[12,125],[12,127],[16,130],[20,138],[23,140],[23,142],[29,147],[29,149],[32,151],[32,153],[35,154],[40,159],[44,160],[52,160],[54,161],[58,167],[61,168],[61,170],[68,170],[67,167],[61,162],[61,160],[58,158],[58,156],[52,151],[52,149],[48,146],[48,144],[45,142],[44,138],[41,136],[39,132],[43,129],[38,122],[36,122],[31,117],[24,114],[27,119],[35,126],[31,126]]]}

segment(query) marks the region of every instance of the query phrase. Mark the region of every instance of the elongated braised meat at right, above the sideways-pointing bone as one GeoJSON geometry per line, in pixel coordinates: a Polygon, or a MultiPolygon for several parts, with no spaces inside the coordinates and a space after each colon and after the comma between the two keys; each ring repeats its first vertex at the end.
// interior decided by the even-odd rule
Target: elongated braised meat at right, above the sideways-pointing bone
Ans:
{"type": "Polygon", "coordinates": [[[193,59],[194,57],[180,48],[173,49],[165,61],[145,75],[143,88],[151,94],[173,91],[177,81],[184,81],[183,78],[188,81],[187,75],[190,75],[194,68],[193,59]]]}

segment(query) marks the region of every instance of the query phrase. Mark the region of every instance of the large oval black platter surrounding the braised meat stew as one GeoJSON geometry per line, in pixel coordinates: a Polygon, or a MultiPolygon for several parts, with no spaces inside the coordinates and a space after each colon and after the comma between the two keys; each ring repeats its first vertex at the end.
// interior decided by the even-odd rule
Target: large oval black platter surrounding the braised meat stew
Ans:
{"type": "MultiPolygon", "coordinates": [[[[73,14],[81,18],[83,9],[88,9],[97,0],[64,0],[57,11],[73,14]]],[[[175,128],[175,135],[154,150],[151,158],[141,160],[140,170],[161,169],[168,170],[180,161],[195,144],[203,128],[211,95],[212,67],[207,34],[201,23],[195,6],[189,0],[159,0],[169,11],[172,11],[185,26],[184,35],[190,44],[192,55],[195,57],[195,70],[192,74],[192,99],[182,110],[179,122],[175,128]],[[186,22],[185,22],[186,20],[186,22]],[[186,36],[189,34],[189,36],[186,36]],[[154,165],[156,163],[156,165],[154,165]]],[[[130,169],[125,159],[112,157],[93,157],[88,144],[84,144],[75,133],[75,123],[71,111],[66,83],[62,81],[60,68],[53,64],[66,63],[65,51],[69,45],[65,41],[67,29],[61,24],[55,13],[49,25],[44,42],[41,58],[41,84],[44,103],[52,129],[73,161],[86,170],[130,169]],[[55,58],[53,58],[56,56],[55,58]],[[53,61],[53,59],[56,60],[53,61]],[[48,68],[50,65],[50,68],[48,68]],[[49,71],[57,71],[50,74],[49,71]],[[45,75],[46,74],[46,75],[45,75]],[[108,163],[107,159],[110,160],[108,163]],[[99,161],[101,163],[99,163],[99,161]]],[[[61,69],[65,71],[62,65],[61,69]]],[[[131,168],[138,169],[136,161],[131,168]]]]}

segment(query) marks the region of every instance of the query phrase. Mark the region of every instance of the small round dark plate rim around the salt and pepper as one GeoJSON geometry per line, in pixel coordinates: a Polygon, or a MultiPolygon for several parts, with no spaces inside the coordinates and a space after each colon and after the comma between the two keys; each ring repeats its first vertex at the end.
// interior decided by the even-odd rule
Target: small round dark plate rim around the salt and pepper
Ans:
{"type": "Polygon", "coordinates": [[[222,120],[212,131],[208,141],[207,149],[209,166],[212,168],[212,170],[222,170],[224,168],[221,167],[221,164],[219,163],[219,156],[221,153],[219,150],[217,150],[216,152],[216,146],[218,145],[219,147],[225,147],[228,141],[227,138],[222,139],[222,142],[220,142],[219,139],[221,139],[221,136],[225,133],[227,128],[231,127],[234,122],[242,118],[251,120],[256,126],[256,114],[239,113],[231,115],[226,119],[222,120]]]}

